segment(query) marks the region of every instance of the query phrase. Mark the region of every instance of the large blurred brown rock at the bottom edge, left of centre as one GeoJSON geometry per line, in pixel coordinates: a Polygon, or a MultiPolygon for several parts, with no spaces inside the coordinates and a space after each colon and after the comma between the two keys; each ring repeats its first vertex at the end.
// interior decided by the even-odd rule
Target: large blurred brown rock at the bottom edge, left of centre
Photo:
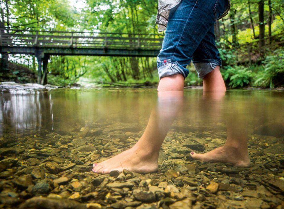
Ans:
{"type": "Polygon", "coordinates": [[[20,205],[20,209],[86,209],[86,205],[74,200],[33,197],[20,205]]]}

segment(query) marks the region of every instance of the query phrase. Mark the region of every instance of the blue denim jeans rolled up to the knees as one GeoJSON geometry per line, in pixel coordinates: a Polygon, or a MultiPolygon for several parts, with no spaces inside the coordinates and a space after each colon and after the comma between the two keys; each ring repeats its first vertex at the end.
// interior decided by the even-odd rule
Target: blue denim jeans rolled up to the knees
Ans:
{"type": "Polygon", "coordinates": [[[170,9],[162,49],[157,57],[159,78],[182,74],[192,63],[199,78],[221,66],[214,23],[228,8],[227,0],[182,0],[170,9]]]}

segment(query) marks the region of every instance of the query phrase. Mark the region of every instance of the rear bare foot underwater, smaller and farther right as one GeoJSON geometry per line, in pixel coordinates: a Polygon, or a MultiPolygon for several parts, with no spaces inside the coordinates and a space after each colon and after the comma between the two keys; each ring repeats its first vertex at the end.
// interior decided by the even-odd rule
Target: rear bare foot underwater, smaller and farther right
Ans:
{"type": "Polygon", "coordinates": [[[204,154],[190,153],[194,160],[204,162],[231,163],[238,167],[248,167],[250,165],[249,153],[247,150],[235,148],[229,145],[218,147],[204,154]]]}

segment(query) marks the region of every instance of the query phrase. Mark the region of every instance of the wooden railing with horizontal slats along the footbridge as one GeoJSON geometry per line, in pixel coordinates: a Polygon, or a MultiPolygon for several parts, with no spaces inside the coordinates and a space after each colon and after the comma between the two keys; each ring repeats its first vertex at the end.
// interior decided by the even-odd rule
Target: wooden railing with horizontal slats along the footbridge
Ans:
{"type": "Polygon", "coordinates": [[[0,30],[0,46],[160,49],[161,34],[89,33],[69,31],[0,30]]]}

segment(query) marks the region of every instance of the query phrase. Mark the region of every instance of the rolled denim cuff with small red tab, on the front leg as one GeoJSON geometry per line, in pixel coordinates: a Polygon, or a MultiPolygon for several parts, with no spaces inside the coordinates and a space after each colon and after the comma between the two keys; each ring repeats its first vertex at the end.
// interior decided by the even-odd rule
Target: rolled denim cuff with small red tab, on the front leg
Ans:
{"type": "Polygon", "coordinates": [[[184,68],[178,62],[172,63],[171,60],[164,60],[162,62],[159,62],[157,67],[160,80],[163,77],[176,74],[182,74],[183,77],[186,78],[189,73],[188,69],[184,68]]]}

